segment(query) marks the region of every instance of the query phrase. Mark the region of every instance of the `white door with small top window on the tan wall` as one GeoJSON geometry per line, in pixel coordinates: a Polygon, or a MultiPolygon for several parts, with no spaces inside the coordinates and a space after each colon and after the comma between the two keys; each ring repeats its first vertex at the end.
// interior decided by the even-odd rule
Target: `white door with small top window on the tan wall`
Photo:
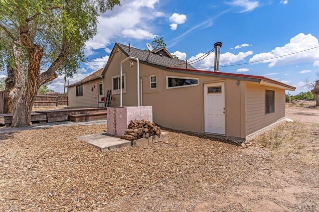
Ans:
{"type": "Polygon", "coordinates": [[[204,85],[205,132],[225,134],[225,84],[204,85]]]}

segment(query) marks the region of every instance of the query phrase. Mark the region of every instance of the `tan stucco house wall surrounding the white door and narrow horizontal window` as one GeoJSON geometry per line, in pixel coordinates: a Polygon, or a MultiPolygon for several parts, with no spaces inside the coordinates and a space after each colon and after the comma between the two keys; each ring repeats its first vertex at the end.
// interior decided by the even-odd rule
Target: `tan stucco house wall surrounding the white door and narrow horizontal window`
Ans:
{"type": "MultiPolygon", "coordinates": [[[[112,76],[120,74],[120,62],[126,56],[118,49],[111,58],[104,78],[105,91],[112,89],[112,76]]],[[[137,66],[123,65],[126,73],[126,93],[123,106],[137,105],[137,66]]],[[[245,137],[245,82],[237,85],[237,80],[210,76],[165,71],[140,63],[140,77],[143,78],[143,105],[153,106],[153,120],[158,124],[184,131],[204,133],[203,87],[205,83],[225,82],[226,135],[245,137]],[[150,89],[150,76],[157,75],[157,89],[150,89]],[[199,78],[199,85],[184,88],[166,89],[166,76],[199,78]],[[243,98],[243,99],[241,99],[243,98]]],[[[114,95],[111,106],[120,106],[120,95],[114,95]]]]}

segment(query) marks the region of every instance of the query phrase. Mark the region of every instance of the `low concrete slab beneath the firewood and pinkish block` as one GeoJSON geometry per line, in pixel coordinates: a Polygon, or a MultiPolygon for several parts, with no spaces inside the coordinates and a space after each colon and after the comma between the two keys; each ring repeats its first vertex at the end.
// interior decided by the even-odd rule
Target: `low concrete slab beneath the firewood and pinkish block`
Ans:
{"type": "Polygon", "coordinates": [[[131,141],[110,136],[105,132],[82,135],[78,139],[88,142],[102,152],[131,147],[131,141]]]}

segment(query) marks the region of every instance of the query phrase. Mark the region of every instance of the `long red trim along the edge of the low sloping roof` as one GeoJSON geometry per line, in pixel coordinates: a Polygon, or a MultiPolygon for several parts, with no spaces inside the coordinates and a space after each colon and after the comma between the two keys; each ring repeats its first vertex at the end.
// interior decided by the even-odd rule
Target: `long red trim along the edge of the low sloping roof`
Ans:
{"type": "Polygon", "coordinates": [[[204,74],[213,74],[213,75],[222,75],[222,76],[234,76],[234,77],[244,77],[244,78],[250,78],[250,79],[260,79],[264,80],[270,83],[274,83],[277,85],[285,86],[288,88],[296,89],[293,86],[287,85],[285,83],[278,82],[276,80],[269,79],[267,77],[263,76],[256,76],[256,75],[246,75],[246,74],[234,74],[234,73],[226,73],[226,72],[211,72],[211,71],[204,71],[204,70],[192,70],[192,69],[180,69],[180,68],[172,68],[172,67],[166,67],[168,70],[176,70],[176,71],[187,71],[187,72],[195,72],[195,73],[204,73],[204,74]]]}

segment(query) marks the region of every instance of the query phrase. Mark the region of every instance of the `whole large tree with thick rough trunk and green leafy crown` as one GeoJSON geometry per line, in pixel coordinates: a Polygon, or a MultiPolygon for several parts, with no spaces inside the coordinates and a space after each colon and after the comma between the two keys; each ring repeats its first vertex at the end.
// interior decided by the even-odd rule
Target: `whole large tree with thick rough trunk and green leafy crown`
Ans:
{"type": "Polygon", "coordinates": [[[26,126],[31,124],[39,87],[57,74],[76,73],[84,61],[85,42],[97,33],[99,13],[120,5],[120,0],[0,0],[0,4],[6,104],[12,108],[11,126],[26,126]]]}

